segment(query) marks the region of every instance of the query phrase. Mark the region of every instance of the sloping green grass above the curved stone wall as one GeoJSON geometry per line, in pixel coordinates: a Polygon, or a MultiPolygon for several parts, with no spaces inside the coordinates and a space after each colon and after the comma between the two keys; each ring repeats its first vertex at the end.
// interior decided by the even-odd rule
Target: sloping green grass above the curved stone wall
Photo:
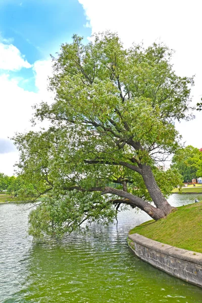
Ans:
{"type": "Polygon", "coordinates": [[[202,202],[181,206],[166,219],[147,221],[129,233],[202,253],[202,202]]]}

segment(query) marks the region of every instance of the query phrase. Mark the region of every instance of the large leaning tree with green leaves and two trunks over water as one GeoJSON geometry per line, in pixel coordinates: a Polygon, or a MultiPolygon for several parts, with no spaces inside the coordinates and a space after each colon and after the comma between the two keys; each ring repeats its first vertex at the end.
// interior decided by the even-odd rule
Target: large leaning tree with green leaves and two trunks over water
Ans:
{"type": "Polygon", "coordinates": [[[160,163],[178,147],[174,123],[187,117],[193,79],[175,74],[171,56],[157,43],[125,49],[111,32],[62,44],[49,79],[55,102],[35,107],[34,121],[51,126],[15,137],[21,177],[32,184],[20,198],[41,197],[33,235],[113,220],[123,205],[155,220],[172,212],[166,197],[181,180],[160,163]]]}

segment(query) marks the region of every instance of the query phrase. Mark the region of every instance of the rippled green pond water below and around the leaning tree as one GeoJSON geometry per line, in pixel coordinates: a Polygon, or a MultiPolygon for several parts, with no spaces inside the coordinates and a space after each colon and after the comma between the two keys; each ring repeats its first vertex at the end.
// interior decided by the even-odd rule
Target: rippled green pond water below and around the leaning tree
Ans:
{"type": "MultiPolygon", "coordinates": [[[[173,194],[173,206],[202,195],[173,194]]],[[[0,302],[202,302],[202,288],[144,263],[128,249],[129,229],[147,221],[125,211],[118,224],[92,224],[58,243],[27,235],[28,205],[0,205],[0,302]]]]}

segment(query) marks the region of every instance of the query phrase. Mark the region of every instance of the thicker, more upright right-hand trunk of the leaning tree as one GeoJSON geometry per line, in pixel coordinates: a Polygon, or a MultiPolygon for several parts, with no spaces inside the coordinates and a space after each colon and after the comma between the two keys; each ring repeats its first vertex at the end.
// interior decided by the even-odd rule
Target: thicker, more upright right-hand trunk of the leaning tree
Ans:
{"type": "Polygon", "coordinates": [[[153,200],[154,204],[156,205],[157,209],[161,209],[164,213],[164,217],[166,217],[168,214],[172,212],[175,208],[172,207],[164,195],[162,194],[159,186],[157,185],[157,182],[155,180],[155,177],[153,175],[153,172],[151,171],[150,166],[148,165],[142,165],[142,178],[144,180],[144,183],[146,185],[146,188],[148,190],[148,193],[153,200]]]}

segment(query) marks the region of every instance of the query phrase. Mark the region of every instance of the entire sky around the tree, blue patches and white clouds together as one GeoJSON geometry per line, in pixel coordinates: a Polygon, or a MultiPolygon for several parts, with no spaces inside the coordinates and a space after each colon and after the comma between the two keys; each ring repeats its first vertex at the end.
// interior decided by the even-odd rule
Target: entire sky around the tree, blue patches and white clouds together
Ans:
{"type": "MultiPolygon", "coordinates": [[[[0,172],[14,174],[18,151],[10,138],[31,129],[32,106],[53,102],[47,91],[50,54],[74,33],[118,32],[126,47],[162,41],[175,50],[173,68],[195,75],[192,104],[202,97],[201,9],[198,0],[0,0],[0,172]]],[[[202,147],[202,113],[176,123],[185,145],[202,147]]]]}

